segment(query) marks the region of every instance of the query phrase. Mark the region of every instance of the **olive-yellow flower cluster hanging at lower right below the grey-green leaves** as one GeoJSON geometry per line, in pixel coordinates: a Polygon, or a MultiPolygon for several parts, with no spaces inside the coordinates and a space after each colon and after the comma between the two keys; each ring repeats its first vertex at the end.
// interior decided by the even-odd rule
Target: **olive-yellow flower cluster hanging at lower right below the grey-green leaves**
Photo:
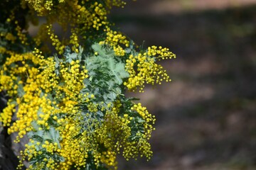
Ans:
{"type": "MultiPolygon", "coordinates": [[[[107,148],[107,153],[112,157],[111,166],[116,165],[116,154],[123,150],[123,157],[129,160],[130,158],[136,158],[138,154],[146,156],[148,159],[152,156],[151,147],[149,145],[149,138],[151,137],[151,131],[154,130],[152,125],[155,118],[145,107],[142,107],[141,103],[134,104],[131,108],[132,111],[136,111],[145,120],[144,132],[138,132],[136,134],[138,140],[130,140],[132,136],[132,128],[129,126],[134,120],[129,113],[120,113],[120,107],[122,103],[117,101],[114,103],[114,107],[111,111],[107,111],[105,115],[105,121],[96,130],[96,138],[99,142],[107,148]],[[112,154],[111,154],[112,153],[112,154]],[[115,153],[115,154],[114,154],[115,153]]],[[[105,158],[103,155],[102,157],[105,158]]],[[[116,167],[116,166],[114,166],[116,167]]]]}

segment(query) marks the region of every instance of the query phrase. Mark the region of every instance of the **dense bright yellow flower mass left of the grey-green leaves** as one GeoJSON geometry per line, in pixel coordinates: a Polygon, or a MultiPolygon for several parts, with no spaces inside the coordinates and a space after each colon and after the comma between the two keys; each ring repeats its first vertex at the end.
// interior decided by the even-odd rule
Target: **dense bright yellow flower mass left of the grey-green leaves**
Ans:
{"type": "MultiPolygon", "coordinates": [[[[14,83],[10,84],[9,81],[6,81],[4,72],[7,70],[11,73],[12,79],[16,78],[14,74],[26,75],[26,77],[18,82],[18,84],[23,85],[24,91],[22,98],[16,98],[15,101],[18,104],[18,111],[14,109],[16,104],[9,101],[8,106],[0,115],[0,121],[6,126],[10,126],[12,113],[16,112],[17,114],[18,120],[11,125],[8,132],[18,132],[18,141],[27,132],[33,130],[33,125],[31,125],[33,121],[36,121],[37,125],[41,126],[40,129],[49,130],[50,125],[48,120],[53,119],[56,123],[59,123],[60,135],[63,138],[60,147],[57,147],[56,143],[50,143],[48,141],[43,144],[38,142],[33,144],[31,142],[32,145],[26,145],[23,156],[28,157],[28,159],[36,157],[37,154],[42,153],[36,145],[42,145],[46,149],[46,152],[50,154],[58,152],[65,159],[65,162],[61,162],[57,166],[56,162],[53,162],[52,159],[47,159],[41,163],[38,162],[36,169],[41,169],[43,166],[47,166],[50,169],[57,169],[58,167],[60,169],[69,169],[73,164],[76,166],[85,166],[87,152],[80,150],[79,140],[73,140],[74,135],[78,135],[79,128],[75,128],[73,119],[58,120],[56,116],[63,113],[68,115],[79,113],[78,107],[75,107],[75,105],[78,101],[81,101],[82,95],[80,94],[80,90],[85,87],[83,80],[88,77],[85,67],[80,67],[78,60],[70,62],[68,67],[64,63],[60,63],[60,75],[57,77],[53,58],[44,59],[39,50],[35,49],[33,54],[14,54],[6,59],[4,69],[1,70],[1,89],[6,90],[7,88],[12,88],[8,91],[9,96],[11,96],[17,94],[17,88],[12,87],[16,86],[14,83]],[[31,60],[33,64],[38,64],[38,69],[29,67],[26,64],[28,60],[31,60]],[[16,65],[15,68],[11,67],[10,70],[10,65],[15,62],[21,62],[25,65],[23,67],[16,65]],[[64,84],[60,85],[60,82],[64,84]],[[55,91],[57,102],[49,99],[53,91],[55,91]],[[43,96],[41,96],[42,93],[44,93],[43,96]]],[[[33,166],[30,168],[35,169],[33,166]]]]}

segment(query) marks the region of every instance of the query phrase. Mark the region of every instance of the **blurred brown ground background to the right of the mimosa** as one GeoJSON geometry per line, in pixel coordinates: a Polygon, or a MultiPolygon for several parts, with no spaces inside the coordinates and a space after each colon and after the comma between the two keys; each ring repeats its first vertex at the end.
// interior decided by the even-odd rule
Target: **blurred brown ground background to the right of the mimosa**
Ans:
{"type": "Polygon", "coordinates": [[[171,83],[129,94],[156,115],[154,157],[120,157],[119,169],[256,169],[256,1],[128,1],[110,17],[177,55],[161,62],[171,83]]]}

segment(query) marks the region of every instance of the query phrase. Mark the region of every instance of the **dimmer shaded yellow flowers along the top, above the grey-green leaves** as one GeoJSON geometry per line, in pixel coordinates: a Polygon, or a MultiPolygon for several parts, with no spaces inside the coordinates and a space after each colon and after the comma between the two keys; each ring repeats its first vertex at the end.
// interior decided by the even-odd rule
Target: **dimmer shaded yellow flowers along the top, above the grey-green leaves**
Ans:
{"type": "MultiPolygon", "coordinates": [[[[111,30],[110,23],[107,21],[107,13],[112,6],[124,6],[124,1],[107,0],[103,4],[92,0],[58,0],[57,2],[53,2],[53,0],[22,0],[21,4],[23,6],[29,4],[32,12],[36,11],[39,16],[46,16],[46,23],[41,25],[34,40],[37,45],[50,40],[50,44],[59,54],[63,54],[66,45],[72,46],[72,50],[78,52],[79,42],[101,40],[102,38],[99,38],[98,35],[102,34],[102,31],[105,32],[107,38],[101,42],[111,45],[116,55],[124,56],[122,45],[129,46],[129,40],[121,33],[111,30]],[[60,40],[54,33],[53,23],[58,23],[64,34],[70,34],[70,37],[63,36],[60,40]]],[[[41,48],[41,50],[46,49],[46,45],[41,48]]]]}

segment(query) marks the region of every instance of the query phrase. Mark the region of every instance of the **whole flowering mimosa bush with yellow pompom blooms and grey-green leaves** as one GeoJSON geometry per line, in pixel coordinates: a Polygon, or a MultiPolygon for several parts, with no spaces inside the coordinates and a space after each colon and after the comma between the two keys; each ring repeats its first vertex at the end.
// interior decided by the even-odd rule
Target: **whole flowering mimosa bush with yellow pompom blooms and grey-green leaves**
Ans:
{"type": "Polygon", "coordinates": [[[155,117],[124,93],[170,81],[156,60],[175,55],[156,46],[137,52],[114,30],[107,14],[123,7],[121,0],[14,4],[2,9],[9,15],[0,23],[0,92],[7,101],[0,122],[17,134],[15,142],[29,138],[18,169],[25,160],[28,169],[88,170],[117,169],[117,154],[150,159],[155,117]],[[38,33],[29,35],[41,16],[38,33]]]}

